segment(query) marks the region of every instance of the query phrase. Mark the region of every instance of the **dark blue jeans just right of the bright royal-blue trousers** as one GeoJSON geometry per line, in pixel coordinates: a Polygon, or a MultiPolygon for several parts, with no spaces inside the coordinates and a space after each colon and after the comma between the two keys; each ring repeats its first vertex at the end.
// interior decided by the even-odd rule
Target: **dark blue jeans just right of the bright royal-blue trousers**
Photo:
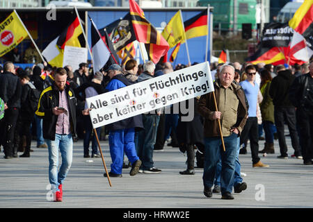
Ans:
{"type": "Polygon", "coordinates": [[[157,114],[143,114],[143,127],[138,133],[138,157],[143,162],[143,169],[154,167],[153,150],[157,139],[157,129],[160,117],[157,114]]]}

